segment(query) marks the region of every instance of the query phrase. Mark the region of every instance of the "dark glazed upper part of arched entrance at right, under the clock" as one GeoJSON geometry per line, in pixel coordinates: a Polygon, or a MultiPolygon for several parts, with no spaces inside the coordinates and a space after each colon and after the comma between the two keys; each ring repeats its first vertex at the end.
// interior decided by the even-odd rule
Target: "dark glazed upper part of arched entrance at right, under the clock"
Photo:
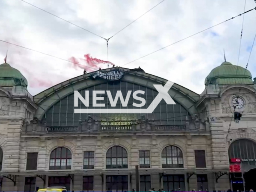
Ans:
{"type": "Polygon", "coordinates": [[[229,146],[228,155],[242,160],[242,164],[256,165],[256,143],[249,139],[238,139],[229,146]]]}

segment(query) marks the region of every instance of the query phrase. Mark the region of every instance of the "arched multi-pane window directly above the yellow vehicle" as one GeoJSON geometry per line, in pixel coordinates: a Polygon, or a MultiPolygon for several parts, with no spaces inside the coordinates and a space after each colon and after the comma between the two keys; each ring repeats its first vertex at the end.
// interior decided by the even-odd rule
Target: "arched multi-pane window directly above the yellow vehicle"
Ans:
{"type": "Polygon", "coordinates": [[[68,148],[58,147],[50,155],[50,170],[71,169],[72,154],[68,148]]]}

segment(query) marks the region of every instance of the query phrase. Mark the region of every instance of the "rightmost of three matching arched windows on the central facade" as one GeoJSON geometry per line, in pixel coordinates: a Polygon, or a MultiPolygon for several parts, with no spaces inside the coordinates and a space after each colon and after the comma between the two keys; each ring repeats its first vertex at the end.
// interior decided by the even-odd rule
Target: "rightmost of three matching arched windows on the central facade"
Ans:
{"type": "Polygon", "coordinates": [[[162,168],[183,168],[183,155],[180,148],[167,146],[162,151],[162,168]]]}

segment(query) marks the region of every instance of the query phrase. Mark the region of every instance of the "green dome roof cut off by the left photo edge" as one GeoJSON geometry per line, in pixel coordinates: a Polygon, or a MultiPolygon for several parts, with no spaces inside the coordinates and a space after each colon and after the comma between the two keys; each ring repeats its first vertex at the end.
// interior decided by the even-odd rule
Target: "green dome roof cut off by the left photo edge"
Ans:
{"type": "Polygon", "coordinates": [[[8,63],[0,65],[0,86],[28,86],[28,81],[21,74],[21,72],[15,68],[12,68],[8,63]]]}

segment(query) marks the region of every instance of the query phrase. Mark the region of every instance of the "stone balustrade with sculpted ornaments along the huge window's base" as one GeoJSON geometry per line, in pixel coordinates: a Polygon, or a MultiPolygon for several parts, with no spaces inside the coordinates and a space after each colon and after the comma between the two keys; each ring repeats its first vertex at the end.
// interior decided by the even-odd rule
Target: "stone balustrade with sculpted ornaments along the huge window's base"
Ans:
{"type": "Polygon", "coordinates": [[[23,122],[23,132],[27,134],[42,133],[68,133],[68,132],[151,132],[151,131],[193,131],[206,130],[205,123],[198,115],[193,118],[186,116],[186,122],[182,125],[159,125],[156,120],[142,117],[129,125],[101,125],[100,121],[88,116],[86,120],[79,120],[78,126],[47,126],[46,119],[38,118],[28,123],[23,122]]]}

